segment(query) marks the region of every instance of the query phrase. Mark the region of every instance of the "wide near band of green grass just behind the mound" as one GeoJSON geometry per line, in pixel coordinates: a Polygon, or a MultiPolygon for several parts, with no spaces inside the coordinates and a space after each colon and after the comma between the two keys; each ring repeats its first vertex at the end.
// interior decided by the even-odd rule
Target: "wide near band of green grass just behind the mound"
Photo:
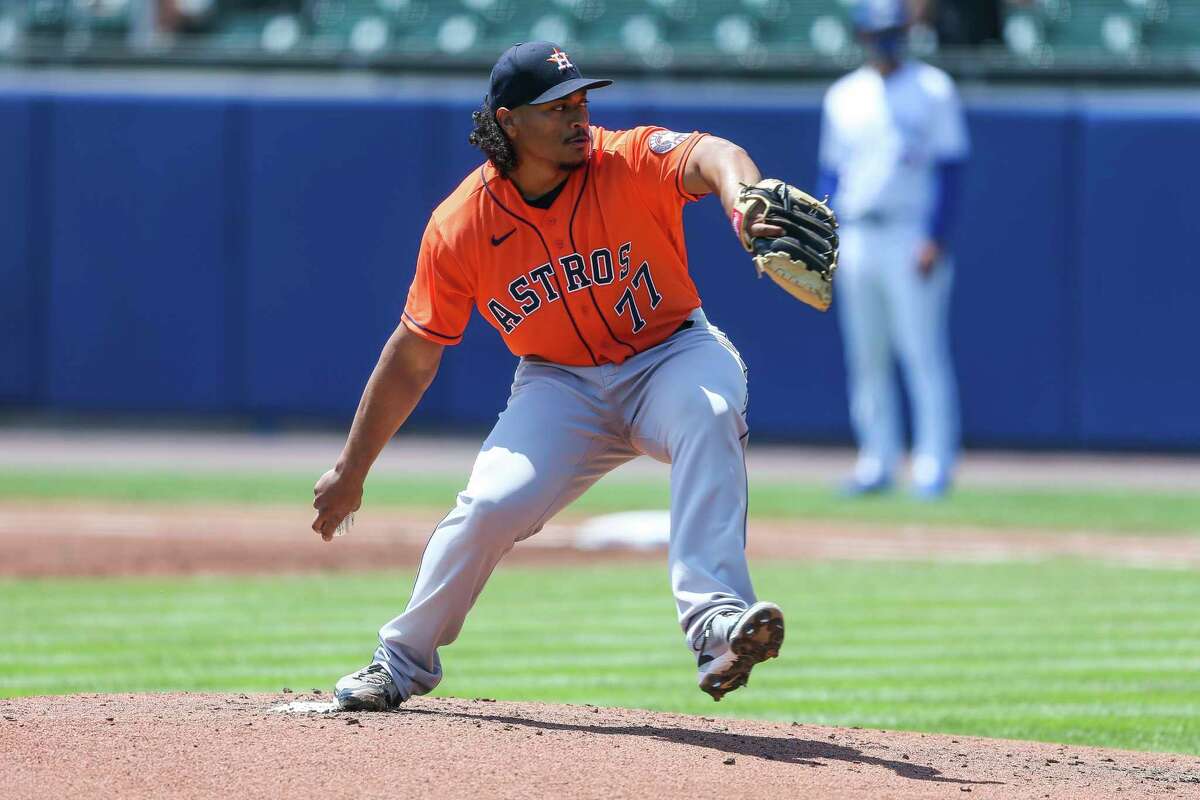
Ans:
{"type": "MultiPolygon", "coordinates": [[[[439,693],[1200,754],[1200,581],[1081,561],[773,564],[784,656],[715,704],[662,566],[502,567],[439,693]]],[[[410,575],[0,582],[0,696],[329,690],[410,575]]]]}

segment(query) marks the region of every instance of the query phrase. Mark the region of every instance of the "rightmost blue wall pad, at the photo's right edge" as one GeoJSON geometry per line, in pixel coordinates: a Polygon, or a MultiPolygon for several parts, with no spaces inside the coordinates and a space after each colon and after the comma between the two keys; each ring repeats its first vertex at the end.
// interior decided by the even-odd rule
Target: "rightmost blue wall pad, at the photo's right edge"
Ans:
{"type": "Polygon", "coordinates": [[[1200,446],[1198,148],[1200,113],[1084,116],[1085,444],[1200,446]]]}

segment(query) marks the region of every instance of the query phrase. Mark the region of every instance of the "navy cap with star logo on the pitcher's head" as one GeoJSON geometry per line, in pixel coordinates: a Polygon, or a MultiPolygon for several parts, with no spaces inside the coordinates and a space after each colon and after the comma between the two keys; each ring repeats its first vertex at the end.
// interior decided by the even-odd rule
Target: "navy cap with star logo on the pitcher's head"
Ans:
{"type": "Polygon", "coordinates": [[[580,68],[553,42],[522,42],[504,52],[492,67],[487,107],[516,108],[527,103],[562,100],[580,89],[599,89],[612,82],[584,78],[580,68]]]}

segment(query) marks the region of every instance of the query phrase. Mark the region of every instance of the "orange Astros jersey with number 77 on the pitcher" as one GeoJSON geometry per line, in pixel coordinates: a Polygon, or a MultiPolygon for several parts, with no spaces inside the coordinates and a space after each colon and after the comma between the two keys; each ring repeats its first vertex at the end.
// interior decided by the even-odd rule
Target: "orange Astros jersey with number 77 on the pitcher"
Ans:
{"type": "Polygon", "coordinates": [[[684,166],[706,134],[592,126],[584,167],[542,210],[485,163],[433,211],[403,321],[457,344],[479,309],[515,355],[620,363],[700,307],[688,275],[684,166]]]}

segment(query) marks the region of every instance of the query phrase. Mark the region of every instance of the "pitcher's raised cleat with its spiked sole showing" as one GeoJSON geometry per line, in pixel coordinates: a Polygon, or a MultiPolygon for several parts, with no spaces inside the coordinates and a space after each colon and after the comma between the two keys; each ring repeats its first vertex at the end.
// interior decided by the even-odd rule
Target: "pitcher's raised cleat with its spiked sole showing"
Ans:
{"type": "Polygon", "coordinates": [[[713,614],[696,648],[701,691],[720,700],[749,684],[754,666],[778,656],[782,645],[784,612],[775,603],[713,614]]]}

